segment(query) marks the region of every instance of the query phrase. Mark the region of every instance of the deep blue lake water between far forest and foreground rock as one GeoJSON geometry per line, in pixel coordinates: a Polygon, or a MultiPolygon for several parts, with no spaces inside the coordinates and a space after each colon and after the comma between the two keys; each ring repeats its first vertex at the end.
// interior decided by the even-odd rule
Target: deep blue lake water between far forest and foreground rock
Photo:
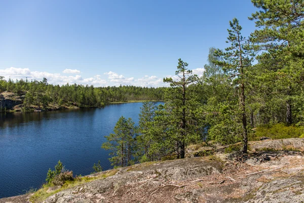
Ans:
{"type": "Polygon", "coordinates": [[[100,148],[104,136],[121,116],[137,124],[141,106],[0,114],[0,198],[41,187],[58,160],[74,175],[90,174],[98,160],[108,170],[108,152],[100,148]]]}

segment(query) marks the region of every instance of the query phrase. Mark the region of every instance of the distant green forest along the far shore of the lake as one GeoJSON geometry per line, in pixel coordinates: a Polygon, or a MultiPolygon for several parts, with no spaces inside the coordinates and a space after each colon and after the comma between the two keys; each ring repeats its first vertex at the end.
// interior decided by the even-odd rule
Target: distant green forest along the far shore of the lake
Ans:
{"type": "Polygon", "coordinates": [[[103,107],[114,101],[132,100],[163,100],[164,87],[147,88],[135,86],[94,87],[93,85],[52,85],[46,78],[43,81],[28,81],[20,79],[4,80],[0,76],[0,92],[9,91],[18,95],[25,95],[23,104],[25,109],[32,105],[38,109],[52,108],[70,103],[78,107],[103,107]]]}

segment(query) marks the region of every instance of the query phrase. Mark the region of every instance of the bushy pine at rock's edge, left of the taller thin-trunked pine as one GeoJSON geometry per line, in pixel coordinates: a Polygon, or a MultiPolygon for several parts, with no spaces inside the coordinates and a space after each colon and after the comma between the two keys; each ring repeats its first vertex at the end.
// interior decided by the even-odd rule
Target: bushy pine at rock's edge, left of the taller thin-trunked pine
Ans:
{"type": "Polygon", "coordinates": [[[191,70],[187,69],[188,64],[181,59],[178,59],[177,71],[175,75],[178,80],[172,78],[164,78],[164,82],[169,83],[170,87],[165,92],[166,103],[164,110],[167,114],[163,124],[166,125],[166,134],[170,137],[171,144],[166,146],[175,151],[177,158],[184,158],[185,146],[191,142],[200,140],[200,130],[196,126],[199,124],[199,119],[196,117],[194,110],[199,102],[194,93],[195,86],[199,80],[197,75],[192,74],[191,70]]]}

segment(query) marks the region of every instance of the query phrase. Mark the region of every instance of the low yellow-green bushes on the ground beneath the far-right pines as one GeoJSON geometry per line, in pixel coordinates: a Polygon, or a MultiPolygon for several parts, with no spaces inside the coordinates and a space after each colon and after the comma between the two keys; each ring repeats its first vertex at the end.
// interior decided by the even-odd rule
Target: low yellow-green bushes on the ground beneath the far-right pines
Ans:
{"type": "Polygon", "coordinates": [[[250,137],[250,140],[259,140],[259,138],[267,137],[274,140],[286,139],[286,138],[300,138],[304,133],[304,127],[285,125],[283,123],[275,125],[262,125],[256,128],[254,136],[250,137]]]}

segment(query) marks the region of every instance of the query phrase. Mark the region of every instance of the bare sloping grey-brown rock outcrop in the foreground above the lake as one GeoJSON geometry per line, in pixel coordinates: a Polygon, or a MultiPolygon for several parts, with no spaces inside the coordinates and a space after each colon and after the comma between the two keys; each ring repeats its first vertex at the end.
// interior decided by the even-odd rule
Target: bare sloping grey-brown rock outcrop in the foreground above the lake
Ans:
{"type": "MultiPolygon", "coordinates": [[[[276,142],[254,144],[270,149],[276,142]]],[[[44,200],[27,194],[0,202],[304,202],[303,148],[282,149],[146,162],[90,175],[93,181],[67,189],[48,188],[44,200]]]]}

